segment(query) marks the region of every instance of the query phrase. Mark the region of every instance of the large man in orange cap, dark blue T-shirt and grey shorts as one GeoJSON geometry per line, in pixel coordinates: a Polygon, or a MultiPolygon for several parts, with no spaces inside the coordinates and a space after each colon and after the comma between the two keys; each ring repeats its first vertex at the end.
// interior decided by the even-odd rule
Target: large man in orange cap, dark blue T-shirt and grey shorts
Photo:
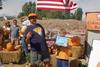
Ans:
{"type": "Polygon", "coordinates": [[[48,62],[50,55],[46,45],[45,31],[43,27],[36,22],[37,14],[31,13],[28,18],[31,25],[27,27],[25,36],[27,43],[30,43],[31,46],[31,65],[38,65],[41,61],[48,62]]]}

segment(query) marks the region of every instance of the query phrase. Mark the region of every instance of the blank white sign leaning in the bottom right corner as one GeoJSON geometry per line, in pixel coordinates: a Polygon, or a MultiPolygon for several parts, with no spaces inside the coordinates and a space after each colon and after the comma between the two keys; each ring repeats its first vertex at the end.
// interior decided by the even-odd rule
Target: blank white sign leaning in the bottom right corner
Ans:
{"type": "Polygon", "coordinates": [[[100,63],[100,40],[93,40],[88,67],[97,67],[100,63]]]}

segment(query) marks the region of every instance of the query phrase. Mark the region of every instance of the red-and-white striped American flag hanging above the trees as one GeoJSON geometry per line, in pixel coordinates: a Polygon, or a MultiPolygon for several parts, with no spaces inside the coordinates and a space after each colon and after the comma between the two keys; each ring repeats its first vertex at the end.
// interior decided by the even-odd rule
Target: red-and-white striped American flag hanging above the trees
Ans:
{"type": "Polygon", "coordinates": [[[37,10],[73,10],[77,3],[72,0],[37,0],[37,10]]]}

